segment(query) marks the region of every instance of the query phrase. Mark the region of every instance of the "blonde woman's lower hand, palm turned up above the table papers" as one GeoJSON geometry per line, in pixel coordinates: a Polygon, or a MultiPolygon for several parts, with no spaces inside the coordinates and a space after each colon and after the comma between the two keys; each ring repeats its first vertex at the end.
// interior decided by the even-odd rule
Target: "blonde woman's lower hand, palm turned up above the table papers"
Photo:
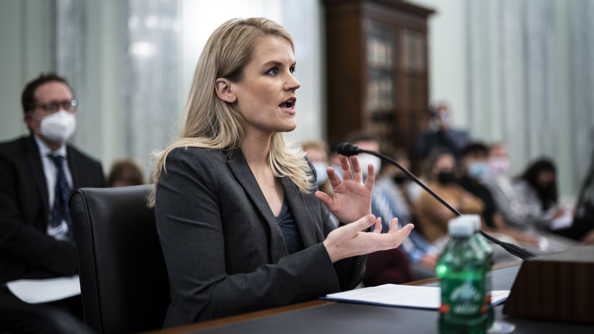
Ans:
{"type": "Polygon", "coordinates": [[[324,240],[324,246],[333,263],[351,256],[390,250],[402,244],[415,227],[408,224],[398,230],[397,226],[398,219],[394,218],[390,222],[390,231],[381,234],[381,218],[375,219],[374,215],[366,215],[356,222],[341,226],[330,232],[326,240],[324,240]],[[362,232],[370,228],[374,223],[375,229],[373,232],[362,232]]]}

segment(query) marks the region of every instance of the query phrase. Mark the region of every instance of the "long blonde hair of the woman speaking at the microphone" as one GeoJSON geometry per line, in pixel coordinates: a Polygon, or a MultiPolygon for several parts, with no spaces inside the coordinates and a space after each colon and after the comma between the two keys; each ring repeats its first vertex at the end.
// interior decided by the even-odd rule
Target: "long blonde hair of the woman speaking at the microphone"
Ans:
{"type": "MultiPolygon", "coordinates": [[[[252,58],[254,46],[261,37],[284,37],[293,39],[280,24],[267,18],[233,18],[226,21],[208,38],[189,90],[188,103],[182,115],[181,132],[170,146],[155,154],[153,190],[148,201],[155,204],[157,182],[162,171],[166,172],[165,160],[177,147],[202,147],[204,149],[238,149],[244,140],[244,119],[232,106],[217,96],[214,81],[227,78],[241,81],[244,67],[252,58]]],[[[276,177],[289,177],[299,191],[311,190],[311,174],[304,153],[299,147],[287,147],[282,133],[271,138],[268,163],[276,177]]]]}

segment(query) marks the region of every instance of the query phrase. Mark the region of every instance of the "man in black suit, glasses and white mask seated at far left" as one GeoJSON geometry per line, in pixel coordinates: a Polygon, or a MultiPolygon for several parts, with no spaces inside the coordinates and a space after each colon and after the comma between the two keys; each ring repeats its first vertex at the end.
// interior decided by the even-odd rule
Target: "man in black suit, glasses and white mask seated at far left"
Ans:
{"type": "MultiPolygon", "coordinates": [[[[76,188],[105,187],[101,164],[67,144],[77,109],[67,81],[39,75],[21,102],[30,134],[0,144],[0,283],[77,274],[68,199],[76,188]]],[[[2,284],[0,295],[18,303],[2,284]]],[[[80,296],[50,305],[82,315],[80,296]]]]}

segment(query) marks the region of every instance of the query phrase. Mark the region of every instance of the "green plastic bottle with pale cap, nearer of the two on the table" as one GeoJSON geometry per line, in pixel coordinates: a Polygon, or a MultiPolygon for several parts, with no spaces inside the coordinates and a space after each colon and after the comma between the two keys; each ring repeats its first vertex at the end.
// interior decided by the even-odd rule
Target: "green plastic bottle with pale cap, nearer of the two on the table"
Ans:
{"type": "Polygon", "coordinates": [[[437,277],[441,285],[440,333],[484,334],[487,329],[486,256],[473,237],[472,218],[450,220],[450,242],[441,253],[437,277]]]}

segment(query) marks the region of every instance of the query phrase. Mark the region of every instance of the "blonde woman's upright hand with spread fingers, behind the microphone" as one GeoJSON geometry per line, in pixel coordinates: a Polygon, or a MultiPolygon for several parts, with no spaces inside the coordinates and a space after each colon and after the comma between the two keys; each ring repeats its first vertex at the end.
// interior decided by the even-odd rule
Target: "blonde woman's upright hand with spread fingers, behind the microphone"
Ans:
{"type": "Polygon", "coordinates": [[[350,171],[349,158],[340,156],[342,181],[333,168],[328,167],[326,170],[334,198],[330,198],[321,191],[315,192],[315,197],[321,200],[340,222],[345,224],[352,223],[371,213],[371,190],[375,180],[373,165],[366,166],[367,179],[363,184],[363,173],[359,160],[356,156],[351,156],[350,162],[353,165],[352,172],[350,171]]]}

